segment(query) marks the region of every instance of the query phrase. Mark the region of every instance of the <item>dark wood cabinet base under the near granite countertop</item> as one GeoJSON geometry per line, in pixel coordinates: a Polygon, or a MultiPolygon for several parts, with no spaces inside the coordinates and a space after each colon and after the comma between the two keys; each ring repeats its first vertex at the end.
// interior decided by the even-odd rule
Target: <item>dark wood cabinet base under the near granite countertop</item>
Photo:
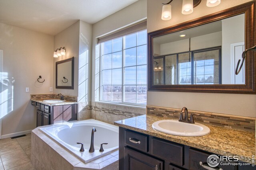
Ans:
{"type": "Polygon", "coordinates": [[[212,170],[220,168],[222,170],[250,170],[254,168],[220,164],[211,168],[206,162],[211,154],[214,153],[119,127],[120,170],[212,170]]]}

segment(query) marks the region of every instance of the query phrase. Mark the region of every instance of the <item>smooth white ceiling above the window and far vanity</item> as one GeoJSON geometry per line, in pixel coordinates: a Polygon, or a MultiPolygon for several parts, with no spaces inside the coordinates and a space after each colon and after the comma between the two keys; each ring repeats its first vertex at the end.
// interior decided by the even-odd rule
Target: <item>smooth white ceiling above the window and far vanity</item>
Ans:
{"type": "Polygon", "coordinates": [[[138,0],[0,0],[0,23],[56,35],[78,20],[94,24],[138,0]]]}

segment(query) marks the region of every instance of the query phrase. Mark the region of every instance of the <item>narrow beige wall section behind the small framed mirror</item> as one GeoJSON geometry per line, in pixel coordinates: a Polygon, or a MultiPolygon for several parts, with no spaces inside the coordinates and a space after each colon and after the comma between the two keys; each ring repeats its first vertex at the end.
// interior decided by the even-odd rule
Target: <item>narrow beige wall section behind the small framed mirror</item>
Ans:
{"type": "Polygon", "coordinates": [[[65,47],[66,56],[54,58],[53,63],[53,92],[63,95],[78,96],[78,56],[79,56],[79,27],[80,21],[77,21],[70,27],[64,29],[54,36],[54,50],[65,47]],[[74,90],[56,89],[56,62],[74,57],[74,90]]]}

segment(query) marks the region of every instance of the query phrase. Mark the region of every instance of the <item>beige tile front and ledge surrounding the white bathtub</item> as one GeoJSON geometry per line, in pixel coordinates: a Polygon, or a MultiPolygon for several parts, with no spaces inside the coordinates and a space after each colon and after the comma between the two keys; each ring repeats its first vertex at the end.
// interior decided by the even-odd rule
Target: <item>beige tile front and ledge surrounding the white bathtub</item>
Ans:
{"type": "MultiPolygon", "coordinates": [[[[54,126],[54,125],[47,125],[54,126]]],[[[88,163],[52,141],[37,127],[31,133],[31,163],[37,170],[118,170],[118,150],[88,163]]]]}

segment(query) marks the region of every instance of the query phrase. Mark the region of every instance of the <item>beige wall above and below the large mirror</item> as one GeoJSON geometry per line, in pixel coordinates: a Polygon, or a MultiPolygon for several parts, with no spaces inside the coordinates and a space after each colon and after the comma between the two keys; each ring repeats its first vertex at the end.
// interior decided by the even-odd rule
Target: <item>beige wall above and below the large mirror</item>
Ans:
{"type": "MultiPolygon", "coordinates": [[[[168,2],[164,0],[163,3],[168,2]]],[[[156,31],[171,25],[202,17],[224,10],[250,0],[223,0],[219,6],[209,8],[206,0],[194,8],[190,15],[181,14],[182,1],[176,0],[172,5],[172,19],[161,20],[162,4],[156,0],[147,1],[147,29],[156,31]]],[[[252,94],[217,94],[217,93],[186,93],[186,92],[148,92],[147,105],[182,108],[189,110],[209,111],[230,115],[256,117],[256,95],[252,94]]]]}

